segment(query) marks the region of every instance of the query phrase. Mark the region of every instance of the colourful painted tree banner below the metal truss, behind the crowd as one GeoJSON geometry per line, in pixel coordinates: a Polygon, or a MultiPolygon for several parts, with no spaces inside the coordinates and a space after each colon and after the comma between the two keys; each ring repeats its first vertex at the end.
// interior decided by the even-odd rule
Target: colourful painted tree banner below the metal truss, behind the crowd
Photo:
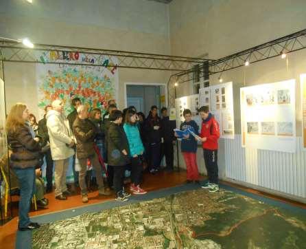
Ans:
{"type": "Polygon", "coordinates": [[[110,67],[84,65],[36,65],[38,113],[43,116],[46,105],[58,98],[64,112],[72,111],[71,99],[78,97],[90,108],[104,109],[108,100],[117,99],[118,72],[110,67]]]}

